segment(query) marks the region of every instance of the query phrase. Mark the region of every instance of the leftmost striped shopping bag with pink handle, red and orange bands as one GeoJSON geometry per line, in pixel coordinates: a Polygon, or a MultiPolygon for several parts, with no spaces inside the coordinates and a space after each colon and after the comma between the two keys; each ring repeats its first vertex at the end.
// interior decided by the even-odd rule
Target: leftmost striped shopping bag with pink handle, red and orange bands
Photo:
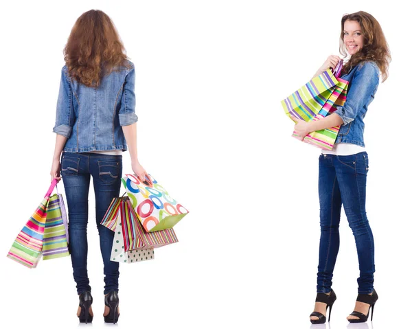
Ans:
{"type": "Polygon", "coordinates": [[[36,211],[27,221],[19,235],[13,242],[7,257],[34,269],[41,258],[43,249],[43,234],[45,231],[45,223],[47,218],[47,205],[49,203],[50,194],[56,186],[57,180],[54,179],[49,190],[38,205],[36,211]]]}

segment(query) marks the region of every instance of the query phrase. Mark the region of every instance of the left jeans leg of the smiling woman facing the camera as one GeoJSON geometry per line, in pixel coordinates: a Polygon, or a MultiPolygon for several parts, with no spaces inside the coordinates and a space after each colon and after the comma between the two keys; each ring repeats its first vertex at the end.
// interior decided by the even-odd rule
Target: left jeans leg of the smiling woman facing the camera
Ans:
{"type": "Polygon", "coordinates": [[[321,155],[319,157],[321,240],[317,273],[318,293],[330,293],[333,270],[339,251],[339,222],[342,201],[333,163],[334,157],[336,156],[321,155]]]}

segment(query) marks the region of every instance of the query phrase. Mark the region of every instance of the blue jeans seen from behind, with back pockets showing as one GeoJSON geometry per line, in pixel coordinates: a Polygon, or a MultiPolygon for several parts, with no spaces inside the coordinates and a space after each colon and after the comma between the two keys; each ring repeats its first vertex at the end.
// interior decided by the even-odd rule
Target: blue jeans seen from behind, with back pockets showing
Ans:
{"type": "Polygon", "coordinates": [[[90,177],[95,191],[96,225],[104,264],[104,294],[119,291],[119,263],[110,260],[114,232],[100,225],[122,183],[122,155],[62,152],[61,176],[69,216],[69,251],[80,295],[91,291],[87,276],[87,220],[90,177]]]}

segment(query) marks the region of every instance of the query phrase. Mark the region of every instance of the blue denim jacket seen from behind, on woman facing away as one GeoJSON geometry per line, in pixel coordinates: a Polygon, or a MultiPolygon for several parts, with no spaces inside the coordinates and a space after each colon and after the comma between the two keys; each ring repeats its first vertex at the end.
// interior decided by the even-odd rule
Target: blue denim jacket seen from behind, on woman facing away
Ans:
{"type": "Polygon", "coordinates": [[[62,67],[54,133],[67,137],[63,151],[127,150],[122,126],[137,122],[135,66],[115,67],[99,87],[87,87],[62,67]]]}

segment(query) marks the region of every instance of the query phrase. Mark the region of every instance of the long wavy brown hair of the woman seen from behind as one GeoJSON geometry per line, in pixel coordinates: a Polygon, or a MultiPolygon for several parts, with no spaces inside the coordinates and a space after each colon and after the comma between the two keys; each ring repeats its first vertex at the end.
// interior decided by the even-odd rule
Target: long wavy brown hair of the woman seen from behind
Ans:
{"type": "Polygon", "coordinates": [[[88,87],[98,87],[104,73],[118,65],[130,68],[115,25],[102,10],[77,19],[63,54],[69,75],[88,87]]]}

